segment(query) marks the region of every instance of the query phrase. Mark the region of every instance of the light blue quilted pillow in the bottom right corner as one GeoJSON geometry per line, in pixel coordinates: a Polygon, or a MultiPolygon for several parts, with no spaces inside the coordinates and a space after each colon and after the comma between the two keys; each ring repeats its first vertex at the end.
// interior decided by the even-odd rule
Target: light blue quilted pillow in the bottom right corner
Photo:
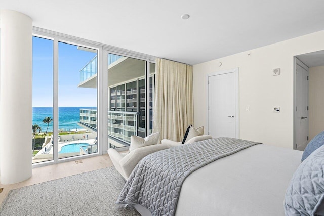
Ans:
{"type": "Polygon", "coordinates": [[[285,196],[285,215],[323,215],[324,146],[295,171],[285,196]]]}

